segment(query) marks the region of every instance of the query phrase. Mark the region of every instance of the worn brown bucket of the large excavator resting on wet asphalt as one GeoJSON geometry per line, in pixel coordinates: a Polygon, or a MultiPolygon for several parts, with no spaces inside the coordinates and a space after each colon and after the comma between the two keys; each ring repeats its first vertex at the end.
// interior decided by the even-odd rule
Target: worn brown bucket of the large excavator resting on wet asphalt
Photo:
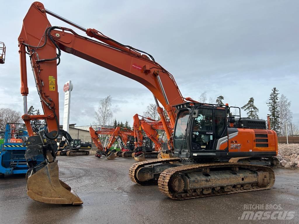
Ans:
{"type": "Polygon", "coordinates": [[[57,161],[31,175],[27,181],[27,188],[28,196],[35,201],[49,204],[83,204],[70,186],[58,178],[57,161]]]}

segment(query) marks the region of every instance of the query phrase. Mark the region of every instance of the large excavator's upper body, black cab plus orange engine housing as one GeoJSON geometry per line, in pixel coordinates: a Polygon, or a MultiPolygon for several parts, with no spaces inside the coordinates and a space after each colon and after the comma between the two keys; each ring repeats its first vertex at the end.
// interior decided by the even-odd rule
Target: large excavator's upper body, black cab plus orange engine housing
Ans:
{"type": "Polygon", "coordinates": [[[225,158],[276,155],[275,134],[264,131],[265,120],[231,116],[228,105],[184,103],[176,109],[176,157],[228,161],[225,158]]]}

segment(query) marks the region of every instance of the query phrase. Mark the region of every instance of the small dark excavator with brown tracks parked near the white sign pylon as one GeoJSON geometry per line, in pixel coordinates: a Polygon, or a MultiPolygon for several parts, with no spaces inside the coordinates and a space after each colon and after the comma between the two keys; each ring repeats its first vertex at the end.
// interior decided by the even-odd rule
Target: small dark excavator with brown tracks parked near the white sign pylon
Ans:
{"type": "Polygon", "coordinates": [[[91,149],[91,143],[81,142],[81,139],[72,139],[71,135],[62,129],[59,130],[59,135],[63,139],[59,142],[59,147],[56,151],[57,156],[87,156],[89,151],[82,149],[91,149]],[[64,143],[64,144],[63,144],[64,143]]]}

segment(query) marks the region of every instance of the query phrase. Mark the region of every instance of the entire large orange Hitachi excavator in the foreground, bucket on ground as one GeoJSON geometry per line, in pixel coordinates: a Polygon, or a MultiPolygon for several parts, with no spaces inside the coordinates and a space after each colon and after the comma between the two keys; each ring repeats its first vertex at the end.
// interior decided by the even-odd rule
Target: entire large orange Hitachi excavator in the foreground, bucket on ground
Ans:
{"type": "Polygon", "coordinates": [[[30,135],[25,158],[30,167],[27,194],[31,199],[54,204],[83,203],[59,180],[55,159],[59,130],[57,65],[62,51],[134,79],[154,95],[167,147],[162,147],[162,159],[132,165],[129,178],[133,182],[158,184],[162,194],[178,200],[260,191],[273,186],[275,176],[270,165],[275,165],[273,157],[278,150],[276,132],[266,130],[264,120],[241,118],[240,113],[237,118],[229,116],[232,107],[228,105],[184,98],[174,77],[150,54],[77,25],[45,9],[40,2],[30,6],[18,41],[22,118],[30,135]],[[82,30],[88,37],[70,28],[52,26],[47,14],[82,30]],[[42,115],[27,114],[27,56],[42,102],[42,115]],[[166,109],[169,122],[158,102],[166,109]],[[35,119],[47,122],[47,129],[38,135],[33,135],[30,125],[35,119]],[[172,151],[175,157],[164,158],[167,151],[172,151]],[[42,154],[45,160],[35,166],[32,158],[37,154],[42,154]]]}

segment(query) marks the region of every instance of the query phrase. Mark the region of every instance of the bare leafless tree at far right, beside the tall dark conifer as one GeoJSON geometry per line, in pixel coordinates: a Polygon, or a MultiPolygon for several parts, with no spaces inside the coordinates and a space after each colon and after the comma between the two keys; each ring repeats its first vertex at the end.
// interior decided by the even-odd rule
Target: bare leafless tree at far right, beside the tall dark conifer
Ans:
{"type": "Polygon", "coordinates": [[[278,102],[278,107],[280,111],[280,134],[286,134],[286,122],[291,122],[293,118],[293,113],[290,110],[291,101],[286,98],[285,95],[281,94],[278,102]]]}

